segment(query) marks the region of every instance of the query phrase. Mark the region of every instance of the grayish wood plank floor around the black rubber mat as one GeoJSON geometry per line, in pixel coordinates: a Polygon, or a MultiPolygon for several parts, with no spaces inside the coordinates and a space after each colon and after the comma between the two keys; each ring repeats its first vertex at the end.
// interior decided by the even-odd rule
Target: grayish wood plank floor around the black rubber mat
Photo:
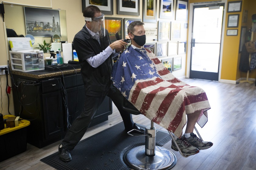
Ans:
{"type": "MultiPolygon", "coordinates": [[[[256,87],[254,84],[219,83],[213,81],[184,79],[191,86],[198,86],[206,91],[211,109],[208,122],[197,127],[204,141],[212,141],[213,146],[201,150],[188,158],[171,149],[171,141],[163,147],[173,151],[177,164],[173,170],[256,170],[256,87]]],[[[96,134],[122,121],[113,105],[113,114],[108,121],[88,129],[82,139],[96,134]]],[[[143,115],[133,115],[136,123],[150,125],[150,120],[143,115]]],[[[155,124],[158,129],[165,130],[155,124]]],[[[44,148],[27,144],[27,151],[0,162],[1,170],[54,170],[40,161],[58,151],[61,141],[44,148]]],[[[121,169],[120,169],[121,170],[121,169]]]]}

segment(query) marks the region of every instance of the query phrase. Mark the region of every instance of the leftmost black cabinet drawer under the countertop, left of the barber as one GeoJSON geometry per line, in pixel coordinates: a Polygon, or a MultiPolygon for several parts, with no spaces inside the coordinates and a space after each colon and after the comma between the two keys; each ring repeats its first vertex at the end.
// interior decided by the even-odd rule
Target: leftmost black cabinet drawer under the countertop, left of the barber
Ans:
{"type": "Polygon", "coordinates": [[[48,93],[59,90],[61,87],[61,79],[49,79],[42,81],[42,93],[48,93]]]}

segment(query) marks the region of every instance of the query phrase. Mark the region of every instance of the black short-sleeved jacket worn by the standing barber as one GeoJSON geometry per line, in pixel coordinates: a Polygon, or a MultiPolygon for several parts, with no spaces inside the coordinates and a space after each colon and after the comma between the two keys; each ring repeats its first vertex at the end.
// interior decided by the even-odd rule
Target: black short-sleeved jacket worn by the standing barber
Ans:
{"type": "Polygon", "coordinates": [[[81,65],[81,74],[84,81],[85,94],[88,96],[104,96],[109,90],[112,81],[110,80],[113,66],[112,55],[97,68],[92,67],[86,59],[101,53],[111,41],[108,31],[105,29],[105,37],[100,39],[101,45],[93,39],[86,26],[74,37],[74,47],[81,65]]]}

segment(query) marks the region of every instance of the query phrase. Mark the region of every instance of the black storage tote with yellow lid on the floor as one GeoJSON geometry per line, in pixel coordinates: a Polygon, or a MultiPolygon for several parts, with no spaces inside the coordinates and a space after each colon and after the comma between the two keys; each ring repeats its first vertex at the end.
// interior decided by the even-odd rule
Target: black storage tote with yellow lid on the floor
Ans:
{"type": "MultiPolygon", "coordinates": [[[[4,115],[3,118],[14,117],[4,115]]],[[[27,150],[27,126],[30,121],[21,120],[19,125],[12,128],[4,128],[0,131],[0,161],[11,158],[27,150]]],[[[6,124],[5,124],[6,127],[6,124]]]]}

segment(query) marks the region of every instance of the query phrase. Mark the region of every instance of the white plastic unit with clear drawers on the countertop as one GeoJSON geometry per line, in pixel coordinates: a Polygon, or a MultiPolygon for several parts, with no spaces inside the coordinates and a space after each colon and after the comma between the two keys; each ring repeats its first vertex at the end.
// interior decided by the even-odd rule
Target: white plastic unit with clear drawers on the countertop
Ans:
{"type": "Polygon", "coordinates": [[[10,60],[15,71],[44,70],[44,52],[41,50],[10,51],[10,60]]]}

